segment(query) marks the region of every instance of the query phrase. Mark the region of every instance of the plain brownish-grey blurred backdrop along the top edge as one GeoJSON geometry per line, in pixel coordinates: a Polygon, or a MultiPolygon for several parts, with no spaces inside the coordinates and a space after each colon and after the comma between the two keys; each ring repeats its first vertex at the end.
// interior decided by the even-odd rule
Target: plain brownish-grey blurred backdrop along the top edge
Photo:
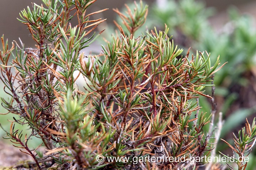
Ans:
{"type": "MultiPolygon", "coordinates": [[[[144,0],[146,4],[152,4],[161,0],[144,0]]],[[[163,0],[162,2],[164,2],[163,0]]],[[[4,34],[5,38],[10,41],[18,40],[21,38],[26,46],[33,46],[33,41],[25,25],[20,23],[16,18],[19,17],[19,12],[26,9],[27,6],[31,6],[32,2],[41,4],[41,0],[0,0],[0,34],[4,34]]],[[[95,4],[90,8],[90,11],[96,11],[103,8],[109,8],[108,11],[102,13],[102,17],[107,18],[108,23],[113,23],[113,19],[116,18],[116,14],[112,8],[123,8],[125,3],[132,3],[132,0],[97,0],[95,4]]],[[[212,26],[218,28],[227,21],[226,10],[232,5],[236,6],[241,12],[251,13],[256,16],[256,1],[255,0],[204,0],[206,7],[214,7],[214,17],[210,18],[212,26]]]]}

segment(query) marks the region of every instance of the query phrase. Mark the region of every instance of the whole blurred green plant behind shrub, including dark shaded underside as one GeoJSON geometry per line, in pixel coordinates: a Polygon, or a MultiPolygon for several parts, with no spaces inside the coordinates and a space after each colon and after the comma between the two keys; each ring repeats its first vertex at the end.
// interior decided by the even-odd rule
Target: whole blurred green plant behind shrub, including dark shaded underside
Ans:
{"type": "MultiPolygon", "coordinates": [[[[233,119],[237,120],[236,123],[230,121],[229,126],[225,126],[227,131],[223,131],[222,135],[225,136],[226,132],[255,113],[254,104],[251,104],[250,100],[247,102],[248,95],[244,95],[251,94],[250,98],[255,100],[255,92],[252,90],[255,80],[255,19],[248,14],[240,15],[233,7],[228,10],[230,20],[215,30],[208,21],[214,8],[206,7],[203,2],[163,2],[166,4],[156,4],[152,9],[150,18],[153,23],[158,23],[161,27],[166,23],[171,28],[170,34],[175,35],[175,42],[183,48],[189,48],[193,44],[193,51],[207,50],[212,53],[211,60],[215,61],[220,55],[221,62],[229,62],[216,73],[214,79],[216,95],[223,101],[218,103],[219,110],[224,116],[234,113],[233,119]]],[[[200,103],[207,106],[203,101],[200,103]]]]}

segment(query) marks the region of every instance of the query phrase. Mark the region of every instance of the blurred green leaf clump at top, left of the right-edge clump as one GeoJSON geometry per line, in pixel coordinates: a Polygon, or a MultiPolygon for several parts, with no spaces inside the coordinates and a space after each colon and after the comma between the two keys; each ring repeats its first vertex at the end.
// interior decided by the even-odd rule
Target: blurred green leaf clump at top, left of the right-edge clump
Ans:
{"type": "Polygon", "coordinates": [[[167,24],[174,37],[185,36],[185,39],[198,41],[208,27],[207,18],[213,13],[211,8],[194,0],[168,0],[166,4],[156,4],[152,11],[152,19],[160,26],[167,24]]]}

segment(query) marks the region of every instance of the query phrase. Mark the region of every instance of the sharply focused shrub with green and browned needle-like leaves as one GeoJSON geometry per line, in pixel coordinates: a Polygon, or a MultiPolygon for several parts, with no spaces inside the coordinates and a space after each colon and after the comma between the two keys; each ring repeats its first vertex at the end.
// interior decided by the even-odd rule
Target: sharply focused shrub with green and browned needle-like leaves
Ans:
{"type": "MultiPolygon", "coordinates": [[[[116,22],[119,35],[102,45],[101,54],[85,56],[82,50],[102,33],[93,34],[104,21],[90,17],[106,9],[87,14],[96,0],[42,1],[44,5],[21,11],[19,18],[35,49],[15,41],[9,48],[1,38],[0,78],[10,96],[2,98],[2,106],[20,116],[5,130],[6,138],[31,155],[30,167],[198,169],[202,162],[191,164],[187,158],[202,157],[213,148],[213,131],[203,129],[213,119],[199,112],[198,98],[213,98],[204,94],[204,87],[213,86],[209,81],[222,67],[219,58],[212,64],[209,53],[190,55],[190,50],[182,56],[167,26],[134,37],[148,13],[142,2],[133,10],[127,6],[127,13],[116,10],[124,25],[116,22]],[[74,72],[84,77],[84,89],[76,85],[74,72]],[[28,124],[31,134],[23,137],[15,124],[28,124]],[[30,148],[31,136],[42,145],[30,148]],[[41,146],[46,153],[37,151],[41,146]],[[186,160],[135,163],[134,157],[186,160]]],[[[244,152],[254,140],[255,127],[247,124],[246,129],[247,135],[245,130],[239,135],[240,150],[230,146],[234,151],[244,152]]]]}

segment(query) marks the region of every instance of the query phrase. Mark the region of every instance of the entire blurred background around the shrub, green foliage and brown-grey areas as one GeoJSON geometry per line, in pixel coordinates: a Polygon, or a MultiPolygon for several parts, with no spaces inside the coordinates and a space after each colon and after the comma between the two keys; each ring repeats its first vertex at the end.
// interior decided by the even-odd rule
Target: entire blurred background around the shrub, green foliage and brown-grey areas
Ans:
{"type": "MultiPolygon", "coordinates": [[[[0,0],[0,34],[4,38],[18,41],[20,37],[25,47],[34,47],[34,42],[26,26],[19,21],[19,12],[31,2],[41,4],[40,0],[0,0]]],[[[101,18],[107,18],[99,29],[106,29],[103,37],[109,39],[114,33],[113,20],[118,20],[112,8],[122,11],[124,3],[133,4],[125,0],[97,0],[90,11],[103,8],[110,10],[101,13],[101,18]]],[[[164,29],[164,24],[170,28],[169,35],[173,35],[175,44],[186,50],[191,47],[193,53],[198,49],[211,53],[214,62],[220,55],[220,62],[228,62],[214,78],[216,85],[215,97],[217,113],[223,112],[225,123],[221,138],[232,142],[232,132],[237,134],[256,116],[256,1],[255,0],[144,0],[149,5],[149,15],[143,29],[164,29]]],[[[89,11],[89,12],[90,12],[89,11]]],[[[140,30],[137,32],[140,34],[140,30]]],[[[100,46],[92,47],[94,51],[101,51],[100,46]]],[[[91,48],[90,48],[91,50],[91,48]]],[[[0,89],[2,89],[0,83],[0,89]]],[[[210,88],[206,89],[211,94],[210,88]]],[[[4,96],[0,90],[0,96],[4,96]]],[[[202,112],[210,113],[211,105],[208,99],[199,101],[202,112]]],[[[0,106],[0,113],[6,113],[0,106]]],[[[0,115],[0,123],[8,129],[14,115],[0,115]]],[[[19,127],[18,127],[19,128],[19,127]]],[[[21,127],[20,127],[21,128],[21,127]]],[[[26,128],[25,131],[27,130],[26,128]]],[[[0,129],[0,136],[5,132],[0,129]]],[[[0,139],[2,140],[2,139],[0,139]]],[[[5,140],[5,142],[8,142],[5,140]]],[[[31,144],[36,147],[40,141],[31,144]]],[[[230,153],[227,145],[220,142],[217,151],[230,153]]],[[[0,143],[1,145],[1,143],[0,143]]],[[[0,148],[1,149],[1,148],[0,148]]],[[[1,160],[1,159],[0,159],[1,160]]],[[[250,163],[246,170],[255,170],[256,151],[250,155],[250,163]]],[[[1,165],[1,162],[0,162],[1,165]]]]}

